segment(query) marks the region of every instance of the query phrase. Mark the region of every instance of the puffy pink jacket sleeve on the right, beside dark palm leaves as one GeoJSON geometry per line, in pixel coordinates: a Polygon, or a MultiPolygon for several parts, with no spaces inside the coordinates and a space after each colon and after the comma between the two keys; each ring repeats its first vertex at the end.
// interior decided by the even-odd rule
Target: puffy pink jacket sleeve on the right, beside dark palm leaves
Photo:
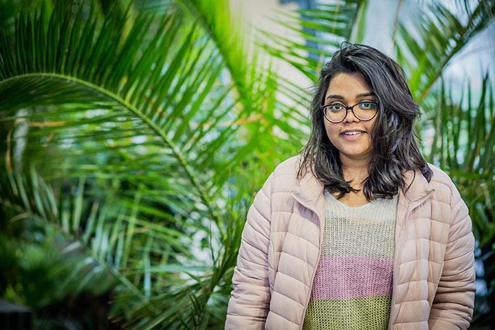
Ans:
{"type": "Polygon", "coordinates": [[[451,181],[452,220],[429,329],[467,329],[473,316],[476,272],[474,235],[468,209],[451,181]]]}

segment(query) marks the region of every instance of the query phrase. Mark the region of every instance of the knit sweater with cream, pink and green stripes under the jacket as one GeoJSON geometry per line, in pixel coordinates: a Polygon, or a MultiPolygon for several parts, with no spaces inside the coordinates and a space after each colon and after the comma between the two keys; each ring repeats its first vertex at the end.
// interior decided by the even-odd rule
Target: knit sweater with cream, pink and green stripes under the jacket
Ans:
{"type": "Polygon", "coordinates": [[[303,329],[387,329],[398,195],[350,207],[324,194],[323,245],[303,329]]]}

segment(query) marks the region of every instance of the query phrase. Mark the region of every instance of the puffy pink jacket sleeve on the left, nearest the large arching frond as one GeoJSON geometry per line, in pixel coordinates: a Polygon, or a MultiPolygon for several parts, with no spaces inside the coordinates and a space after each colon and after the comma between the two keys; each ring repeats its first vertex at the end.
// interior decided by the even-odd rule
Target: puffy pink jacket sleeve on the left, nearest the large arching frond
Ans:
{"type": "Polygon", "coordinates": [[[270,307],[268,246],[272,173],[254,197],[241,234],[225,329],[264,329],[270,307]]]}

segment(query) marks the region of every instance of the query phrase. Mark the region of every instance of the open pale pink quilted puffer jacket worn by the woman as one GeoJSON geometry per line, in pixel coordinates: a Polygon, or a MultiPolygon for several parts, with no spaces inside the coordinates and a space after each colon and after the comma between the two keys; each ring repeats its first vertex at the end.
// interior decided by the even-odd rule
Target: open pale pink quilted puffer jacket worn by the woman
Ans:
{"type": "MultiPolygon", "coordinates": [[[[279,164],[254,197],[234,268],[225,329],[303,327],[325,221],[323,185],[296,179],[300,155],[279,164]]],[[[388,329],[467,329],[474,307],[474,235],[450,177],[428,164],[404,174],[397,206],[388,329]]]]}

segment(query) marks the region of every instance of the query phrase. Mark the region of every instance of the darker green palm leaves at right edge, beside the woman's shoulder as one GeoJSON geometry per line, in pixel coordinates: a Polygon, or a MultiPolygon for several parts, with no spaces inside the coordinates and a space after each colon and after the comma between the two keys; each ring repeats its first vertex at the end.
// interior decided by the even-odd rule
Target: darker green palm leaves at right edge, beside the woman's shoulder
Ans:
{"type": "Polygon", "coordinates": [[[441,78],[439,88],[432,90],[423,101],[428,117],[426,122],[420,122],[420,129],[426,137],[426,146],[431,146],[424,153],[428,161],[452,177],[470,208],[478,242],[476,261],[484,268],[476,278],[485,281],[487,287],[485,292],[480,289],[476,295],[479,306],[474,319],[482,323],[483,319],[489,322],[492,318],[483,311],[483,304],[493,299],[495,279],[492,267],[495,260],[495,118],[494,94],[488,74],[480,85],[478,100],[474,100],[470,84],[465,84],[463,94],[454,98],[454,85],[441,78]]]}

